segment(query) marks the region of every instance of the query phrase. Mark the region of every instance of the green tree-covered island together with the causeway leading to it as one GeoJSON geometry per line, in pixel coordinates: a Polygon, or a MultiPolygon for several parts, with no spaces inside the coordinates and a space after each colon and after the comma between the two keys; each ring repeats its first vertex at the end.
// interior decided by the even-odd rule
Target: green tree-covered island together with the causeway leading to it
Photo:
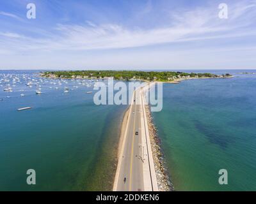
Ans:
{"type": "MultiPolygon", "coordinates": [[[[230,78],[232,75],[211,73],[183,73],[173,71],[47,71],[47,78],[140,80],[179,84],[182,80],[230,78]]],[[[150,106],[144,94],[150,85],[134,91],[134,102],[124,114],[118,143],[118,163],[113,191],[173,191],[170,173],[164,164],[161,140],[154,126],[150,106]],[[137,135],[138,134],[138,135],[137,135]]],[[[132,99],[132,101],[133,101],[132,99]]]]}

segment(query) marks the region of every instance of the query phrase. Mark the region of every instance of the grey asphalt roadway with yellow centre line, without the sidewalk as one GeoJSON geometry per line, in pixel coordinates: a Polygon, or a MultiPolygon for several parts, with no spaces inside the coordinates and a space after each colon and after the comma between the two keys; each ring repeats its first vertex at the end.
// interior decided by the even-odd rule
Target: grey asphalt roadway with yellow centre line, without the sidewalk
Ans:
{"type": "MultiPolygon", "coordinates": [[[[140,90],[138,90],[140,92],[140,90]]],[[[136,103],[141,100],[140,94],[136,103]]],[[[135,96],[134,96],[135,98],[135,96]]],[[[143,154],[141,146],[141,105],[131,105],[131,116],[127,121],[127,135],[122,154],[116,191],[144,191],[143,154]],[[138,135],[135,135],[138,131],[138,135]],[[126,178],[126,182],[124,182],[126,178]]]]}

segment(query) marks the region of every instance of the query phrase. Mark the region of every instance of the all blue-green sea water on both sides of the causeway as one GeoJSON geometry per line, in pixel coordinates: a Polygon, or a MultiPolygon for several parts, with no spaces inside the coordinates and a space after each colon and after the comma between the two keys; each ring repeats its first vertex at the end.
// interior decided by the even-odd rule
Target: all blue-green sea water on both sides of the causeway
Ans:
{"type": "MultiPolygon", "coordinates": [[[[10,73],[20,82],[0,81],[0,191],[111,190],[127,106],[95,106],[86,80],[52,84],[34,71],[0,71],[0,80],[10,73]],[[41,96],[35,82],[25,85],[32,79],[41,96]],[[17,112],[25,106],[33,108],[17,112]],[[31,168],[35,186],[26,184],[31,168]]],[[[256,190],[256,75],[236,76],[164,84],[163,110],[153,116],[175,190],[256,190]],[[223,168],[227,186],[218,184],[223,168]]]]}

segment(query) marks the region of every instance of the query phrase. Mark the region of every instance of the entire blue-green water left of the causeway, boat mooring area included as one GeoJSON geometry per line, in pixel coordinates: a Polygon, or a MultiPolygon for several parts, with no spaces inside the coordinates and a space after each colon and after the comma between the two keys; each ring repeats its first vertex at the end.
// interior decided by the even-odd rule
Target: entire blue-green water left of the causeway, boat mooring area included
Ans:
{"type": "Polygon", "coordinates": [[[93,87],[81,84],[90,81],[36,73],[0,71],[0,191],[111,190],[127,106],[96,106],[86,94],[93,87]],[[8,84],[13,92],[3,91],[8,84]],[[32,109],[17,111],[26,106],[32,109]],[[26,184],[28,169],[36,171],[35,186],[26,184]]]}

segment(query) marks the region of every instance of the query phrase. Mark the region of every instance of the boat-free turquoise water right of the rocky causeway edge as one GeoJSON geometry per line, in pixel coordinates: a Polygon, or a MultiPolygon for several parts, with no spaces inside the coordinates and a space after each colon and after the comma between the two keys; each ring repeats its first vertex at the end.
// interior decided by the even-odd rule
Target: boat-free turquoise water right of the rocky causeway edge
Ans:
{"type": "Polygon", "coordinates": [[[176,191],[256,190],[256,75],[244,71],[163,85],[163,110],[153,117],[176,191]]]}

